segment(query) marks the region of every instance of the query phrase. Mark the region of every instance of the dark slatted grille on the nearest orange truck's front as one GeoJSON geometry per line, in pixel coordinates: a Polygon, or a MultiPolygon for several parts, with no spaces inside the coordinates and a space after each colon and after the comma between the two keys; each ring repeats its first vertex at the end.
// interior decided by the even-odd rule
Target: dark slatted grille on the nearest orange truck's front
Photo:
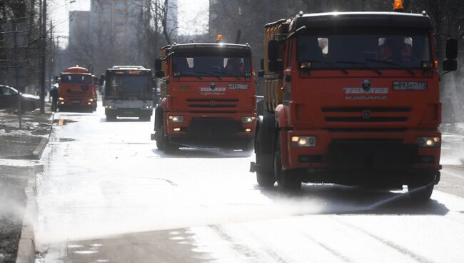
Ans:
{"type": "Polygon", "coordinates": [[[404,122],[410,107],[323,107],[327,122],[404,122]]]}

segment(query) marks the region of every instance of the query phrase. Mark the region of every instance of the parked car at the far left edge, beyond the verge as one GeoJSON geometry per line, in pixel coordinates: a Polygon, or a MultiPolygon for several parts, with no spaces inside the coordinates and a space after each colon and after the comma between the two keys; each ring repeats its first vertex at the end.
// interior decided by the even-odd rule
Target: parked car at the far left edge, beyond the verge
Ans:
{"type": "Polygon", "coordinates": [[[12,86],[0,85],[0,109],[18,109],[18,95],[21,96],[23,111],[32,111],[39,107],[39,96],[24,94],[12,86]]]}

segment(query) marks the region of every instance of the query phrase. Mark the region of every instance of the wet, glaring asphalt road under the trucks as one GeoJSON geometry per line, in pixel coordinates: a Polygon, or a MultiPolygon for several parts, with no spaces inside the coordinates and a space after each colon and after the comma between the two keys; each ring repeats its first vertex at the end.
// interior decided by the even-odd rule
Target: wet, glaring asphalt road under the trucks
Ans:
{"type": "MultiPolygon", "coordinates": [[[[263,190],[250,153],[164,154],[151,122],[58,113],[37,175],[40,262],[462,262],[464,169],[445,134],[427,204],[403,192],[263,190]],[[67,120],[67,121],[66,121],[67,120]]],[[[464,154],[461,154],[463,156],[464,154]]]]}

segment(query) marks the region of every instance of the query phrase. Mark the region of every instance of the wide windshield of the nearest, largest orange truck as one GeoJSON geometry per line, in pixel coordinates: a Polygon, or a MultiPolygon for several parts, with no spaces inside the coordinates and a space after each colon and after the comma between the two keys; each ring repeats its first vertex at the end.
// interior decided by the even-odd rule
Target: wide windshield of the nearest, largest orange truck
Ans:
{"type": "Polygon", "coordinates": [[[426,32],[362,32],[300,35],[297,60],[311,61],[311,69],[421,69],[430,61],[426,32]]]}

